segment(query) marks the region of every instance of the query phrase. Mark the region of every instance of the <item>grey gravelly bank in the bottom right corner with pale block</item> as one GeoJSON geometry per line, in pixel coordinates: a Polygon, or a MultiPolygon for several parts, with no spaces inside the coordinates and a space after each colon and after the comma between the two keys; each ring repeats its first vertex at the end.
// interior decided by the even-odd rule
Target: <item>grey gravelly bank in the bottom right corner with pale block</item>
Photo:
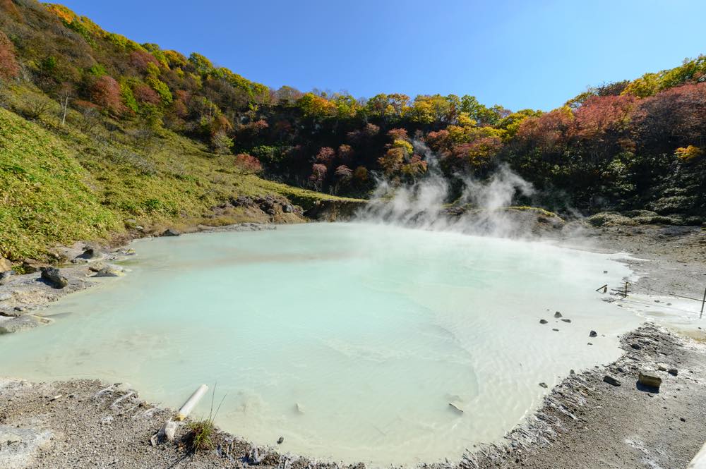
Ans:
{"type": "Polygon", "coordinates": [[[458,467],[686,468],[706,439],[706,347],[650,326],[621,344],[615,363],[556,386],[507,445],[467,453],[458,467]],[[662,379],[659,389],[638,383],[641,370],[662,379]]]}

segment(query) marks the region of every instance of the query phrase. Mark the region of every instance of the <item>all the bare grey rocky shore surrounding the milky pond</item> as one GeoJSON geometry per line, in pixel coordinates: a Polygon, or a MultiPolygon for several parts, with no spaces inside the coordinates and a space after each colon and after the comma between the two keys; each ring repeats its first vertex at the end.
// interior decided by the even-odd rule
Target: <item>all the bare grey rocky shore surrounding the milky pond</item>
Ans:
{"type": "MultiPolygon", "coordinates": [[[[699,227],[568,224],[556,238],[578,248],[630,252],[635,259],[626,262],[640,274],[638,286],[693,296],[706,284],[706,231],[699,227]]],[[[69,254],[76,259],[84,253],[78,246],[69,254]]],[[[108,261],[109,267],[116,255],[130,252],[61,269],[68,281],[61,289],[42,281],[39,272],[4,279],[0,298],[8,293],[11,298],[0,301],[5,315],[0,328],[25,312],[41,317],[42,305],[90,286],[97,263],[108,261]]],[[[501,444],[472,448],[460,462],[429,468],[686,468],[706,439],[706,345],[652,326],[621,341],[622,358],[571,374],[501,444]],[[638,384],[642,370],[662,379],[658,391],[638,384]]],[[[220,432],[213,449],[193,454],[187,425],[173,442],[152,446],[150,437],[172,415],[115,384],[0,381],[0,468],[340,467],[281,455],[276,445],[258,447],[220,432]]]]}

